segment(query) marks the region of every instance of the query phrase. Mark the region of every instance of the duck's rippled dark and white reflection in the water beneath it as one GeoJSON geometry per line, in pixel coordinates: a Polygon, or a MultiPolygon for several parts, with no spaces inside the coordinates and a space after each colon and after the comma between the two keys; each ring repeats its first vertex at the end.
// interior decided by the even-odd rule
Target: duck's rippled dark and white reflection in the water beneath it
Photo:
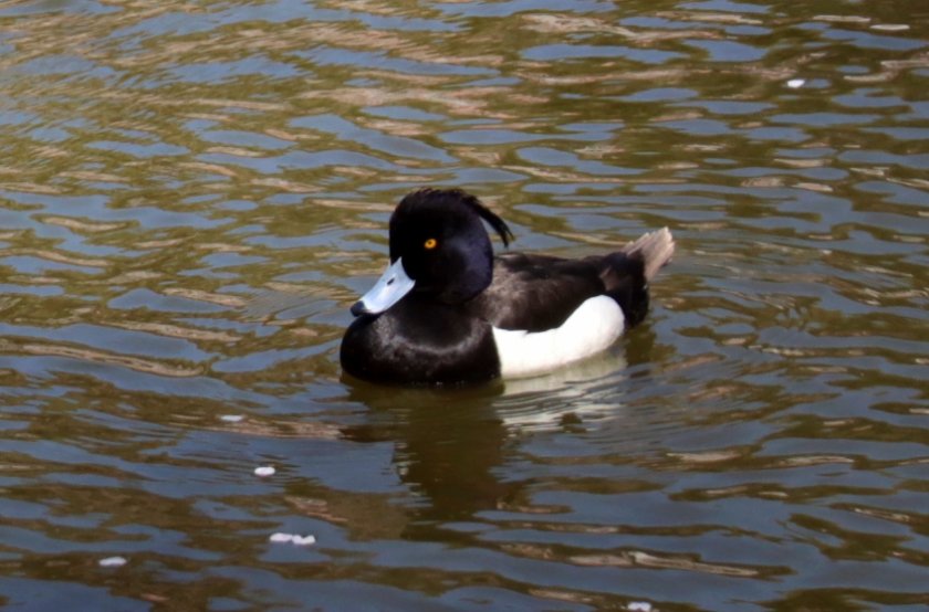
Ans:
{"type": "Polygon", "coordinates": [[[525,482],[504,479],[524,435],[577,428],[622,407],[597,401],[598,388],[624,378],[625,360],[606,355],[543,377],[478,389],[394,389],[358,384],[352,399],[372,409],[369,422],[346,428],[356,442],[395,443],[399,478],[420,497],[414,523],[473,519],[481,511],[526,506],[525,482]]]}

